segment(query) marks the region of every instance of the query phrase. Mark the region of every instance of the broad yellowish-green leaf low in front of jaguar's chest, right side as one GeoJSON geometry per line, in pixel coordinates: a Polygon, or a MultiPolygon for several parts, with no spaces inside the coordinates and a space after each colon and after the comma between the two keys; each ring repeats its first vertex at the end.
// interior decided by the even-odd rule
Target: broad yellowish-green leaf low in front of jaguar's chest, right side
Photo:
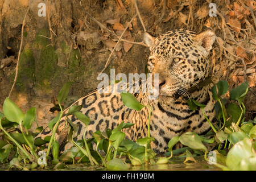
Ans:
{"type": "Polygon", "coordinates": [[[185,146],[192,148],[193,150],[204,150],[207,152],[207,148],[201,142],[201,138],[195,132],[187,132],[180,136],[180,142],[185,146]]]}

